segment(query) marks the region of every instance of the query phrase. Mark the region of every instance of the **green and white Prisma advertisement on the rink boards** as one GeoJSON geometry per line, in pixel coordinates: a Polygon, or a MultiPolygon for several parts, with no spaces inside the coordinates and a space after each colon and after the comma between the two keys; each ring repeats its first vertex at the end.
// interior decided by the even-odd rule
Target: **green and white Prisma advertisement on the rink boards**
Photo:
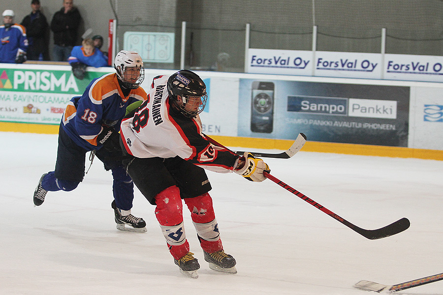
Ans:
{"type": "Polygon", "coordinates": [[[70,66],[62,68],[66,70],[0,68],[0,121],[60,124],[68,101],[104,74],[88,71],[78,80],[70,66]]]}

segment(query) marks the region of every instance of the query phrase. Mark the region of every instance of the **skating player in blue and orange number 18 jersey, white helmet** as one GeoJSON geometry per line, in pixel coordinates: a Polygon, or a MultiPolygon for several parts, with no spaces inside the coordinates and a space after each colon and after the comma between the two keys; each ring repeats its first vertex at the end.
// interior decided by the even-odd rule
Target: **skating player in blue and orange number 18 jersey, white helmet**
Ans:
{"type": "MultiPolygon", "coordinates": [[[[110,73],[94,79],[82,96],[73,97],[63,114],[59,128],[59,146],[55,171],[45,173],[34,191],[33,202],[40,206],[48,191],[71,191],[85,175],[86,153],[91,151],[104,168],[111,170],[117,229],[146,232],[146,222],[131,214],[134,197],[132,179],[123,167],[119,144],[120,123],[126,107],[148,96],[139,88],[144,79],[143,61],[133,51],[120,51],[110,73]]],[[[92,161],[91,159],[91,161],[92,161]]],[[[85,196],[91,198],[94,196],[85,196]]]]}

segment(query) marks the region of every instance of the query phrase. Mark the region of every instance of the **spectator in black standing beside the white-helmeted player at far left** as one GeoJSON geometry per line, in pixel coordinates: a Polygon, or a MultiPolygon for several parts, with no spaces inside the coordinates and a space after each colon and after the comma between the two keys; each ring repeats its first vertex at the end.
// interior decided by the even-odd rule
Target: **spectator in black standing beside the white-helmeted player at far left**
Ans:
{"type": "Polygon", "coordinates": [[[29,60],[49,60],[47,31],[49,28],[46,17],[40,11],[40,0],[31,1],[32,12],[25,16],[21,25],[26,28],[29,47],[29,60]]]}

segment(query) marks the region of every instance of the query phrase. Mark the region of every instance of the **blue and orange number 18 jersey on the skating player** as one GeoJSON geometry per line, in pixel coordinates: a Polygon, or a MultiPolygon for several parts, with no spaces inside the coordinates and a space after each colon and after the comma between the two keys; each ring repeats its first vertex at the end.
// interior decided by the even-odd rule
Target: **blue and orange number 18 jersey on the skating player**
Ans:
{"type": "Polygon", "coordinates": [[[115,73],[94,79],[82,96],[73,97],[66,106],[62,126],[78,146],[86,150],[101,148],[97,135],[102,126],[113,126],[119,131],[126,107],[148,98],[140,87],[132,89],[125,98],[117,79],[115,73]]]}

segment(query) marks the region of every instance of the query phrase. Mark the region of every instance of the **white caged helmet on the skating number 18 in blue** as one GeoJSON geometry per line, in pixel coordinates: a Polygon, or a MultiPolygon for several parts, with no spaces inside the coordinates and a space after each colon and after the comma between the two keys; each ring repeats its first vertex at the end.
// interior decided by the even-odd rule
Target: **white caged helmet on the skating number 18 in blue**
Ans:
{"type": "Polygon", "coordinates": [[[129,89],[137,89],[145,79],[143,60],[135,51],[121,50],[114,59],[114,68],[117,77],[129,89]],[[136,68],[138,71],[131,70],[125,74],[127,68],[136,68]]]}

